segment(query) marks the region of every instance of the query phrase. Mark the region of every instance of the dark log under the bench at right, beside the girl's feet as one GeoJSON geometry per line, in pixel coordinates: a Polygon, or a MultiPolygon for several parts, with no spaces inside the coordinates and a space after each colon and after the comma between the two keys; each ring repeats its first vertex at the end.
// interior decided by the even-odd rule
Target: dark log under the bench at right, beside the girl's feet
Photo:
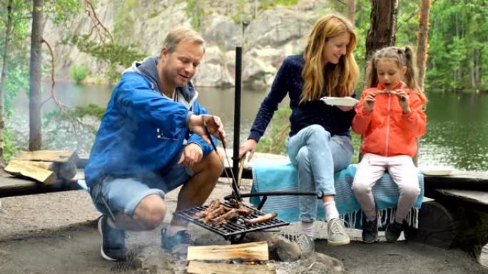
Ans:
{"type": "Polygon", "coordinates": [[[407,241],[440,248],[461,248],[479,260],[488,243],[488,213],[452,201],[428,201],[419,211],[419,227],[407,228],[407,241]]]}

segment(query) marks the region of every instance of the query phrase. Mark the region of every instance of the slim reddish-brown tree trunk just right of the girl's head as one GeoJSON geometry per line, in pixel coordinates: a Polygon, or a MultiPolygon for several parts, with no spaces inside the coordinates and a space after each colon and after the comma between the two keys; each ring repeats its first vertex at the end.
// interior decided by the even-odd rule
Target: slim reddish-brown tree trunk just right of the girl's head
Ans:
{"type": "Polygon", "coordinates": [[[419,35],[417,40],[417,68],[419,69],[419,85],[424,89],[427,49],[429,48],[429,12],[430,0],[420,0],[419,35]]]}

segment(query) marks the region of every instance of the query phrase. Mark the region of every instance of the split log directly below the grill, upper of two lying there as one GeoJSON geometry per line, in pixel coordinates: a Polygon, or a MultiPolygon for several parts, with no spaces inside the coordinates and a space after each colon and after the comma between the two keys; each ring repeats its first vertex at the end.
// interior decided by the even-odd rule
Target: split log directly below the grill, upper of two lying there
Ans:
{"type": "Polygon", "coordinates": [[[268,243],[241,243],[229,246],[189,246],[187,260],[269,260],[268,243]]]}

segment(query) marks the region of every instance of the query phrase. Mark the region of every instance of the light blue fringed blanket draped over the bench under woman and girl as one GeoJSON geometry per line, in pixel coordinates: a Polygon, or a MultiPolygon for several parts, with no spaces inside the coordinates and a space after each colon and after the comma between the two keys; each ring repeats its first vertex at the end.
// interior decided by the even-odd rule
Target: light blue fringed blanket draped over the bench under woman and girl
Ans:
{"type": "MultiPolygon", "coordinates": [[[[357,166],[351,164],[346,169],[337,172],[335,179],[335,203],[342,218],[352,228],[361,228],[362,210],[360,204],[352,192],[352,179],[357,166]]],[[[418,209],[424,198],[424,177],[419,172],[420,195],[414,208],[410,211],[407,221],[411,226],[417,227],[418,209]]],[[[253,187],[252,193],[265,191],[298,191],[298,172],[290,162],[255,162],[253,164],[253,187]]],[[[380,227],[384,228],[386,223],[395,216],[395,209],[398,202],[398,186],[392,177],[385,173],[373,187],[373,196],[380,216],[380,227]]],[[[325,218],[323,206],[317,199],[317,219],[325,218]]],[[[260,197],[251,197],[251,204],[258,205],[260,197]]],[[[298,196],[268,196],[263,212],[276,212],[278,218],[284,221],[298,221],[300,214],[298,209],[298,196]]]]}

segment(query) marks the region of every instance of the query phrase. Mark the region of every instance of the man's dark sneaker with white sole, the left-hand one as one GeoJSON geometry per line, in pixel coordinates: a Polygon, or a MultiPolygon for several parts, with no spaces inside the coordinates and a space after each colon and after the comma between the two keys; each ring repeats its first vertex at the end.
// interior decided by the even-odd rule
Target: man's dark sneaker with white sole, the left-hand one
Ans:
{"type": "Polygon", "coordinates": [[[105,260],[126,260],[126,231],[113,228],[107,223],[108,217],[98,219],[98,232],[101,236],[100,253],[105,260]]]}

